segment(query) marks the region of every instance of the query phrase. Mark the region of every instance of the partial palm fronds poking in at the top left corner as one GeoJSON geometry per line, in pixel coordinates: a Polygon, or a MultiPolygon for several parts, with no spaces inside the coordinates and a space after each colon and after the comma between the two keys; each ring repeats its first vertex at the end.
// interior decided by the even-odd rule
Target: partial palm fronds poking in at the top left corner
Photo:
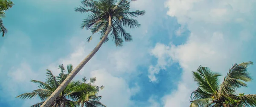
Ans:
{"type": "Polygon", "coordinates": [[[2,37],[7,33],[7,29],[3,26],[2,18],[5,17],[5,12],[9,8],[12,8],[13,2],[11,0],[0,0],[0,33],[2,33],[2,37]]]}

